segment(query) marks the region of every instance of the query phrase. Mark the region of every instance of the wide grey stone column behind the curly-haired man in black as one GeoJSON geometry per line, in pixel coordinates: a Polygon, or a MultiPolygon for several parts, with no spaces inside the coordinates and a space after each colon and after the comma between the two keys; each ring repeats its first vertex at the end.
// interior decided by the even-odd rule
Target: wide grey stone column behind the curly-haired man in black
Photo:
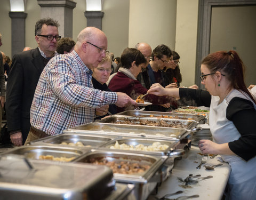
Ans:
{"type": "Polygon", "coordinates": [[[53,18],[60,24],[59,35],[73,38],[73,9],[76,2],[71,0],[37,0],[41,6],[41,18],[53,18]]]}

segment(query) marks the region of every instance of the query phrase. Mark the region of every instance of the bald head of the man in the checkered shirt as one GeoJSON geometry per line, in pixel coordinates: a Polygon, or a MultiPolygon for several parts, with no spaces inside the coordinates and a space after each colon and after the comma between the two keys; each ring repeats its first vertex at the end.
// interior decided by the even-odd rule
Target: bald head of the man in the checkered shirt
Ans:
{"type": "Polygon", "coordinates": [[[86,27],[77,36],[75,51],[86,67],[93,69],[105,57],[107,47],[107,37],[102,30],[86,27]]]}

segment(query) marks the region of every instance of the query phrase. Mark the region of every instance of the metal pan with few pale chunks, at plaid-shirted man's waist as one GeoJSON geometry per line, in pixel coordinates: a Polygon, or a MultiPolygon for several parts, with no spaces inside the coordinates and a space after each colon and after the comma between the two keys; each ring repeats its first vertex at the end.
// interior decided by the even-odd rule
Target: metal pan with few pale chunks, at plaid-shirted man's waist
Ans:
{"type": "Polygon", "coordinates": [[[77,142],[81,142],[82,145],[79,147],[100,147],[103,144],[113,140],[114,137],[107,135],[90,135],[90,134],[70,134],[70,133],[62,133],[59,135],[54,135],[47,138],[42,138],[39,140],[35,140],[30,142],[31,145],[38,145],[44,143],[44,145],[61,145],[68,147],[76,147],[77,142]],[[72,145],[64,145],[62,142],[66,142],[72,145]]]}

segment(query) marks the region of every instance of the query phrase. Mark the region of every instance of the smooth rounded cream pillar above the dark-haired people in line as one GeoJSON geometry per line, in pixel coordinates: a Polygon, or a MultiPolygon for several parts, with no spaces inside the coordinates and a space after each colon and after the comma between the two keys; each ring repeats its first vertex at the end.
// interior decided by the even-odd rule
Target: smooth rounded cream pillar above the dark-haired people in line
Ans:
{"type": "Polygon", "coordinates": [[[154,49],[175,46],[176,0],[130,0],[129,47],[147,42],[154,49]]]}

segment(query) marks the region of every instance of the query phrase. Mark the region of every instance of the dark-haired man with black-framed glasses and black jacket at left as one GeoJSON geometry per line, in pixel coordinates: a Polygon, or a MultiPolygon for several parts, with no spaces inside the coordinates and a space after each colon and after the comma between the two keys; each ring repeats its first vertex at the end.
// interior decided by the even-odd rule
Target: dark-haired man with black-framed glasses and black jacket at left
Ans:
{"type": "Polygon", "coordinates": [[[35,25],[36,49],[15,54],[7,82],[6,117],[10,138],[21,146],[30,129],[30,107],[36,85],[47,62],[58,53],[59,23],[51,18],[35,25]]]}

